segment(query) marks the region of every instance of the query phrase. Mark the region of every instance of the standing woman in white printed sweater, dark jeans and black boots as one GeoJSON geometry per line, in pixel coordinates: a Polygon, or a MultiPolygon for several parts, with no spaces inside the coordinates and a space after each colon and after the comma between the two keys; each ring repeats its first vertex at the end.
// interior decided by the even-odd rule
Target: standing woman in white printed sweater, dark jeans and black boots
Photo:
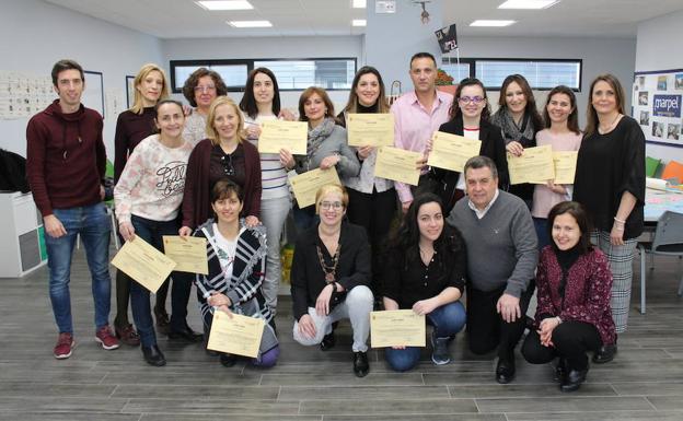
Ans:
{"type": "MultiPolygon", "coordinates": [[[[162,236],[178,232],[177,215],[193,147],[183,138],[185,116],[181,103],[163,100],[155,109],[154,121],[160,132],[143,139],[132,151],[114,188],[114,200],[118,231],[124,239],[128,242],[137,235],[163,252],[162,236]]],[[[196,341],[200,336],[185,319],[192,277],[184,272],[173,272],[172,277],[169,337],[196,341]]],[[[161,366],[166,360],[157,346],[149,293],[138,282],[130,283],[132,318],[140,334],[144,361],[161,366]]]]}

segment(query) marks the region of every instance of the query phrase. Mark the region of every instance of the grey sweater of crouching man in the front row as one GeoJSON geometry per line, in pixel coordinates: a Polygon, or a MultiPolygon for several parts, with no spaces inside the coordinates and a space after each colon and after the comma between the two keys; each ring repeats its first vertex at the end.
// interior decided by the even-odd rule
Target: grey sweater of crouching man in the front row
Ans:
{"type": "Polygon", "coordinates": [[[479,291],[505,292],[520,297],[534,278],[539,262],[536,232],[524,201],[500,191],[484,218],[478,219],[465,196],[447,222],[460,230],[467,246],[467,277],[479,291]]]}

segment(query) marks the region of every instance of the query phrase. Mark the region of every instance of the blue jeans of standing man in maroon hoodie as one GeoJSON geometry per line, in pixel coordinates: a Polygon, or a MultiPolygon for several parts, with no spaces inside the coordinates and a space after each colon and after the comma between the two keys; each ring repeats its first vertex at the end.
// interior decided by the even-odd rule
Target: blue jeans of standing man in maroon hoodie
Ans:
{"type": "Polygon", "coordinates": [[[76,238],[81,237],[88,268],[92,277],[92,294],[95,302],[95,326],[108,325],[109,318],[109,235],[111,219],[104,203],[70,209],[54,209],[67,235],[54,238],[45,234],[47,267],[49,269],[49,294],[59,332],[73,332],[71,320],[71,257],[76,238]]]}

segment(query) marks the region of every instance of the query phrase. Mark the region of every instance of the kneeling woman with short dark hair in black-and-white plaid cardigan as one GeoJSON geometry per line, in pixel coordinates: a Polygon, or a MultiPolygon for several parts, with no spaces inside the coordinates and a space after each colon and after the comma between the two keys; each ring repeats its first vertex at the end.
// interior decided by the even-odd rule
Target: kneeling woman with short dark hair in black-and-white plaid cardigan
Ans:
{"type": "MultiPolygon", "coordinates": [[[[207,239],[209,260],[209,274],[197,274],[197,295],[207,332],[217,309],[264,319],[258,356],[252,363],[270,367],[280,349],[273,313],[261,291],[266,272],[266,233],[263,225],[248,227],[240,219],[243,204],[240,186],[228,179],[216,183],[211,191],[216,219],[209,219],[195,232],[195,236],[207,239]]],[[[222,353],[220,362],[232,366],[236,356],[222,353]]]]}

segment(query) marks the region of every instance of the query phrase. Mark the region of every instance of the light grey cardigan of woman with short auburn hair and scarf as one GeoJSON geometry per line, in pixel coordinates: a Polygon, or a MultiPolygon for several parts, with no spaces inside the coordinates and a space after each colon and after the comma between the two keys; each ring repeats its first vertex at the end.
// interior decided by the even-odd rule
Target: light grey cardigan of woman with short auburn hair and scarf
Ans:
{"type": "Polygon", "coordinates": [[[336,165],[339,178],[356,177],[358,175],[360,172],[360,163],[358,162],[356,152],[354,152],[347,143],[346,129],[336,125],[332,133],[329,133],[329,137],[327,137],[327,139],[321,143],[317,151],[315,151],[311,157],[311,162],[309,162],[305,155],[297,155],[294,157],[297,163],[294,169],[299,174],[315,169],[320,167],[320,163],[325,156],[334,154],[339,155],[339,163],[336,165]]]}

